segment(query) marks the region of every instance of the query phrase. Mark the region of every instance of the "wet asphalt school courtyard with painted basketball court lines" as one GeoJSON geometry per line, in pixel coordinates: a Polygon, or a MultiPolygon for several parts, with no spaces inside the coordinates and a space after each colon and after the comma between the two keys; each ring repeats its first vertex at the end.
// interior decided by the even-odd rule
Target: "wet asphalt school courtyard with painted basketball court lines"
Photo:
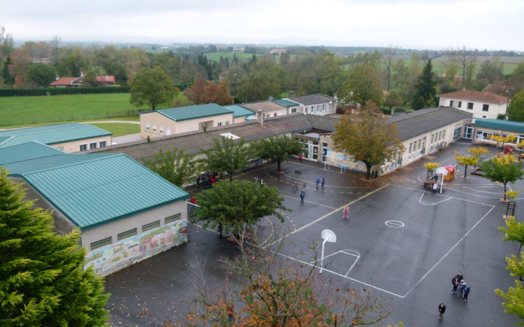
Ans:
{"type": "MultiPolygon", "coordinates": [[[[461,140],[459,140],[460,142],[461,140]]],[[[340,168],[303,160],[269,163],[237,175],[252,181],[255,176],[278,187],[285,198],[286,221],[278,232],[286,245],[278,250],[284,262],[314,264],[307,246],[322,242],[321,232],[330,229],[335,243],[325,244],[322,277],[333,287],[374,288],[375,294],[390,300],[395,314],[383,325],[405,326],[511,326],[518,319],[504,313],[494,290],[507,290],[514,278],[506,270],[505,257],[517,254],[518,244],[503,242],[497,227],[504,225],[506,202],[499,199],[503,186],[481,176],[463,178],[460,166],[451,182],[444,182],[442,194],[422,189],[424,162],[454,165],[455,151],[467,154],[471,144],[452,143],[448,148],[386,176],[364,181],[363,175],[341,172],[340,168]],[[326,179],[325,190],[315,188],[315,178],[326,179]],[[297,180],[298,190],[293,190],[297,180]],[[304,203],[300,203],[306,182],[304,203]],[[349,207],[349,219],[342,217],[349,207]],[[471,285],[468,302],[451,294],[451,278],[462,271],[471,285]],[[438,305],[447,306],[438,321],[438,305]]],[[[489,148],[492,154],[497,149],[489,148]]],[[[440,183],[440,182],[439,182],[440,183]]],[[[523,181],[510,185],[524,190],[523,181]]],[[[202,187],[190,187],[193,195],[202,187]]],[[[516,200],[516,217],[522,212],[524,194],[516,200]]],[[[190,218],[191,221],[192,218],[190,218]]],[[[261,246],[277,233],[271,217],[261,221],[261,246]]],[[[223,280],[224,270],[216,258],[234,255],[234,243],[217,238],[199,222],[188,224],[191,242],[174,247],[106,277],[107,302],[114,326],[156,325],[166,317],[187,313],[196,294],[199,272],[208,283],[223,280]],[[149,316],[151,314],[151,316],[149,316]]],[[[318,263],[319,264],[319,263],[318,263]]],[[[233,280],[232,283],[235,281],[233,280]]]]}

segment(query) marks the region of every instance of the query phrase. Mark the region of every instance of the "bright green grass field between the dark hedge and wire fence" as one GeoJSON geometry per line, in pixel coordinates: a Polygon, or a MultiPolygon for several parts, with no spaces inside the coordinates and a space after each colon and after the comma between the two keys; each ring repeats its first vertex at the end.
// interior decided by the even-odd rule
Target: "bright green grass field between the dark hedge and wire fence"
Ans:
{"type": "Polygon", "coordinates": [[[138,118],[137,109],[147,107],[130,104],[128,93],[0,97],[0,126],[138,118]]]}

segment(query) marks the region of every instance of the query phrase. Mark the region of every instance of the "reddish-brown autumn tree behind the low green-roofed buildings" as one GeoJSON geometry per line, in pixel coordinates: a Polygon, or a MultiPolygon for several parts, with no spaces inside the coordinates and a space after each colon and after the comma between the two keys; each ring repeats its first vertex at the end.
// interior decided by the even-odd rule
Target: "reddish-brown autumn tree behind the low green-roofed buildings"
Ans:
{"type": "Polygon", "coordinates": [[[233,104],[233,97],[226,82],[216,84],[208,81],[206,84],[204,77],[199,76],[196,83],[191,88],[184,90],[184,95],[195,105],[216,103],[218,105],[233,104]]]}

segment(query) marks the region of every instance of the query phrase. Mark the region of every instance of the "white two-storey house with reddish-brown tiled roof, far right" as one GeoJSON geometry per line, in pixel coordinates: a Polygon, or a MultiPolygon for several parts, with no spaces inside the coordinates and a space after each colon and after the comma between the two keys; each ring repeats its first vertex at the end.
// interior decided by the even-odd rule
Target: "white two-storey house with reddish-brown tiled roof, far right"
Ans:
{"type": "Polygon", "coordinates": [[[506,115],[509,98],[492,92],[462,89],[438,95],[439,106],[453,107],[470,112],[473,118],[497,119],[500,114],[506,115]]]}

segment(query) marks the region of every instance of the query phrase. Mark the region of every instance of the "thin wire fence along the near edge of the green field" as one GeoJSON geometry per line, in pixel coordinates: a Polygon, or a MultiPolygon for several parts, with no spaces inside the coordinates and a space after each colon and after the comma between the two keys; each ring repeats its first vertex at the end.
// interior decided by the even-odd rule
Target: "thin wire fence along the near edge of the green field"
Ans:
{"type": "Polygon", "coordinates": [[[57,115],[57,116],[35,116],[35,117],[0,117],[0,126],[13,126],[13,125],[28,125],[36,123],[52,123],[61,121],[74,121],[74,120],[95,120],[115,117],[135,117],[138,116],[139,110],[120,110],[111,112],[98,112],[98,113],[81,113],[71,115],[57,115]]]}

